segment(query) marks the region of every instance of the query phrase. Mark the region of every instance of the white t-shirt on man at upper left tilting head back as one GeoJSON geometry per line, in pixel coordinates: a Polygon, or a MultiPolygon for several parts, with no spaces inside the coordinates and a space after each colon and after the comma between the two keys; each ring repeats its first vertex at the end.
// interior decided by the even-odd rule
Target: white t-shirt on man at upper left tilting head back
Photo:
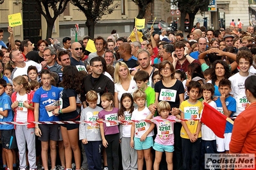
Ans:
{"type": "Polygon", "coordinates": [[[28,75],[27,71],[28,71],[28,67],[29,66],[36,66],[37,67],[37,71],[41,72],[42,70],[42,66],[38,63],[36,63],[35,61],[26,61],[24,62],[26,65],[23,68],[19,68],[19,67],[15,67],[14,70],[12,71],[12,77],[11,79],[13,80],[15,77],[19,76],[19,75],[28,75]]]}

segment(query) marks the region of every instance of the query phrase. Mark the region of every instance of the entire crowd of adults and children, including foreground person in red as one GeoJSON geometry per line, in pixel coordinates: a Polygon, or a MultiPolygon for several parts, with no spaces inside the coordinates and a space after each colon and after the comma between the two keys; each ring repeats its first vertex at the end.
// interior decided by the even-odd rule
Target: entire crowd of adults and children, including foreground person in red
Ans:
{"type": "Polygon", "coordinates": [[[256,27],[196,27],[186,38],[151,28],[142,41],[134,28],[133,42],[113,30],[93,39],[96,52],[89,36],[61,44],[8,32],[0,121],[16,123],[0,125],[5,169],[196,170],[205,153],[256,153],[256,27]],[[224,139],[199,120],[204,103],[235,118],[224,139]]]}

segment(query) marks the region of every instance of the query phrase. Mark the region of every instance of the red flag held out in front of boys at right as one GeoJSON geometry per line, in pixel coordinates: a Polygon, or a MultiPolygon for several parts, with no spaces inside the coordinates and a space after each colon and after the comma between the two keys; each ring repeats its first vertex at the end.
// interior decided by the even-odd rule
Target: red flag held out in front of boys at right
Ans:
{"type": "Polygon", "coordinates": [[[227,117],[206,102],[203,104],[205,106],[201,114],[201,122],[207,125],[218,137],[224,138],[227,117]]]}

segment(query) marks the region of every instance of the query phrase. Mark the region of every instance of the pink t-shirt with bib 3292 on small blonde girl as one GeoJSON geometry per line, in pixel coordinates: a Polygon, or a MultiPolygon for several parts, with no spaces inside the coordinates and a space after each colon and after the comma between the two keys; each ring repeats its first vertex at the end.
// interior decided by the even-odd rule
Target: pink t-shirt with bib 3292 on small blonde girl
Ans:
{"type": "MultiPolygon", "coordinates": [[[[167,119],[175,119],[175,116],[169,115],[167,119]]],[[[153,120],[163,120],[160,116],[156,116],[153,120]]],[[[175,144],[175,135],[173,134],[174,122],[173,121],[156,121],[157,136],[155,137],[155,143],[163,145],[175,144]]]]}

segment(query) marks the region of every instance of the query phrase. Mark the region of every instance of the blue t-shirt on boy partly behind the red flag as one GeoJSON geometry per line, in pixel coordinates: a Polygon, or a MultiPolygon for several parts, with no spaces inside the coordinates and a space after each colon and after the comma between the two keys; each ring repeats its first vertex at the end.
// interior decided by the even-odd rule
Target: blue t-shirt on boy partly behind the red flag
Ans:
{"type": "MultiPolygon", "coordinates": [[[[217,110],[223,114],[221,99],[218,98],[215,102],[217,105],[217,110]]],[[[236,112],[235,98],[229,96],[228,98],[226,98],[225,104],[226,104],[226,108],[228,109],[228,111],[232,111],[232,114],[230,115],[230,117],[232,117],[234,112],[236,112]]],[[[231,133],[232,129],[233,129],[233,125],[231,123],[229,123],[228,121],[226,121],[225,133],[231,133]]]]}

